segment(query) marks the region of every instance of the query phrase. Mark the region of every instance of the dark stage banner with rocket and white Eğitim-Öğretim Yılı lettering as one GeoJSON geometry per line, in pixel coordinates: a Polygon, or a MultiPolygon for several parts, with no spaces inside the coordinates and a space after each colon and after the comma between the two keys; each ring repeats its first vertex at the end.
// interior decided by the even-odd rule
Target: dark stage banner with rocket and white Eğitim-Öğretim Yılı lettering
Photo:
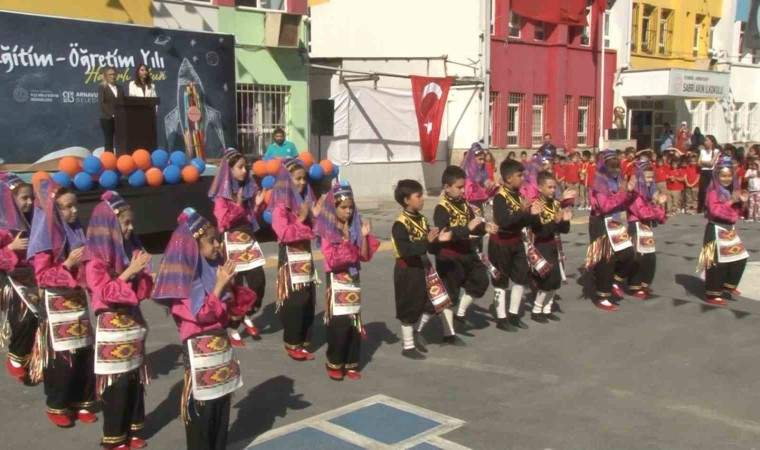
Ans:
{"type": "Polygon", "coordinates": [[[189,82],[206,156],[234,146],[234,36],[0,11],[0,159],[31,163],[67,147],[101,147],[100,70],[115,67],[127,94],[141,63],[161,98],[160,147],[182,150],[192,139],[189,82]]]}

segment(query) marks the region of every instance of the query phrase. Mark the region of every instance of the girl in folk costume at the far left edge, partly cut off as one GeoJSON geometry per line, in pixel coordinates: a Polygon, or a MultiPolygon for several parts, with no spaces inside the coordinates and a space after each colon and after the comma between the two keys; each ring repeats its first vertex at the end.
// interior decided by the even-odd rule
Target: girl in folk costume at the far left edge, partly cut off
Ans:
{"type": "Polygon", "coordinates": [[[5,367],[23,382],[37,331],[39,295],[34,270],[26,261],[34,211],[32,186],[13,173],[0,178],[0,344],[8,339],[5,367]],[[4,317],[3,317],[4,316],[4,317]],[[10,331],[7,336],[5,320],[10,331]]]}

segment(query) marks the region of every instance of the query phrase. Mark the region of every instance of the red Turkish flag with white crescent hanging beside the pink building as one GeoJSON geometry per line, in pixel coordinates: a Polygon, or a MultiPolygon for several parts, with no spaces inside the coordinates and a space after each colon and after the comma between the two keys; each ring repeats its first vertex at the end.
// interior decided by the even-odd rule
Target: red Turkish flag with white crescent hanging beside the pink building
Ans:
{"type": "Polygon", "coordinates": [[[446,97],[454,81],[451,77],[430,78],[412,76],[412,97],[417,112],[417,127],[420,129],[422,159],[433,163],[438,152],[441,136],[441,119],[446,110],[446,97]]]}

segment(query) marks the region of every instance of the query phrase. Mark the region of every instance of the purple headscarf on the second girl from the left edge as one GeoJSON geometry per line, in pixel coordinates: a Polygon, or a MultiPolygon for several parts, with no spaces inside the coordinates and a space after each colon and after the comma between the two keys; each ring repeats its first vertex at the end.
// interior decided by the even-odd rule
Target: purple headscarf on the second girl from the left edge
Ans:
{"type": "Polygon", "coordinates": [[[85,244],[82,224],[79,220],[72,224],[66,223],[55,204],[55,196],[60,189],[61,186],[53,180],[40,180],[34,184],[34,219],[26,250],[27,259],[34,258],[37,253],[50,251],[53,253],[53,261],[58,262],[71,250],[85,244]]]}

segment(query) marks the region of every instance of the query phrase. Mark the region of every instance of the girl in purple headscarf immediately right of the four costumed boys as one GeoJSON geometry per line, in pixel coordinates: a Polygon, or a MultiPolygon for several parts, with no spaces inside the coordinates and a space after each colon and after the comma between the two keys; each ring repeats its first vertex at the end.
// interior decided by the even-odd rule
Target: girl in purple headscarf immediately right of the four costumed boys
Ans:
{"type": "Polygon", "coordinates": [[[633,262],[633,243],[622,213],[633,199],[635,187],[631,178],[626,185],[620,170],[620,157],[614,150],[599,154],[594,186],[591,189],[589,240],[584,269],[594,274],[595,305],[605,311],[616,311],[610,300],[614,294],[624,296],[617,283],[628,278],[633,262]]]}

